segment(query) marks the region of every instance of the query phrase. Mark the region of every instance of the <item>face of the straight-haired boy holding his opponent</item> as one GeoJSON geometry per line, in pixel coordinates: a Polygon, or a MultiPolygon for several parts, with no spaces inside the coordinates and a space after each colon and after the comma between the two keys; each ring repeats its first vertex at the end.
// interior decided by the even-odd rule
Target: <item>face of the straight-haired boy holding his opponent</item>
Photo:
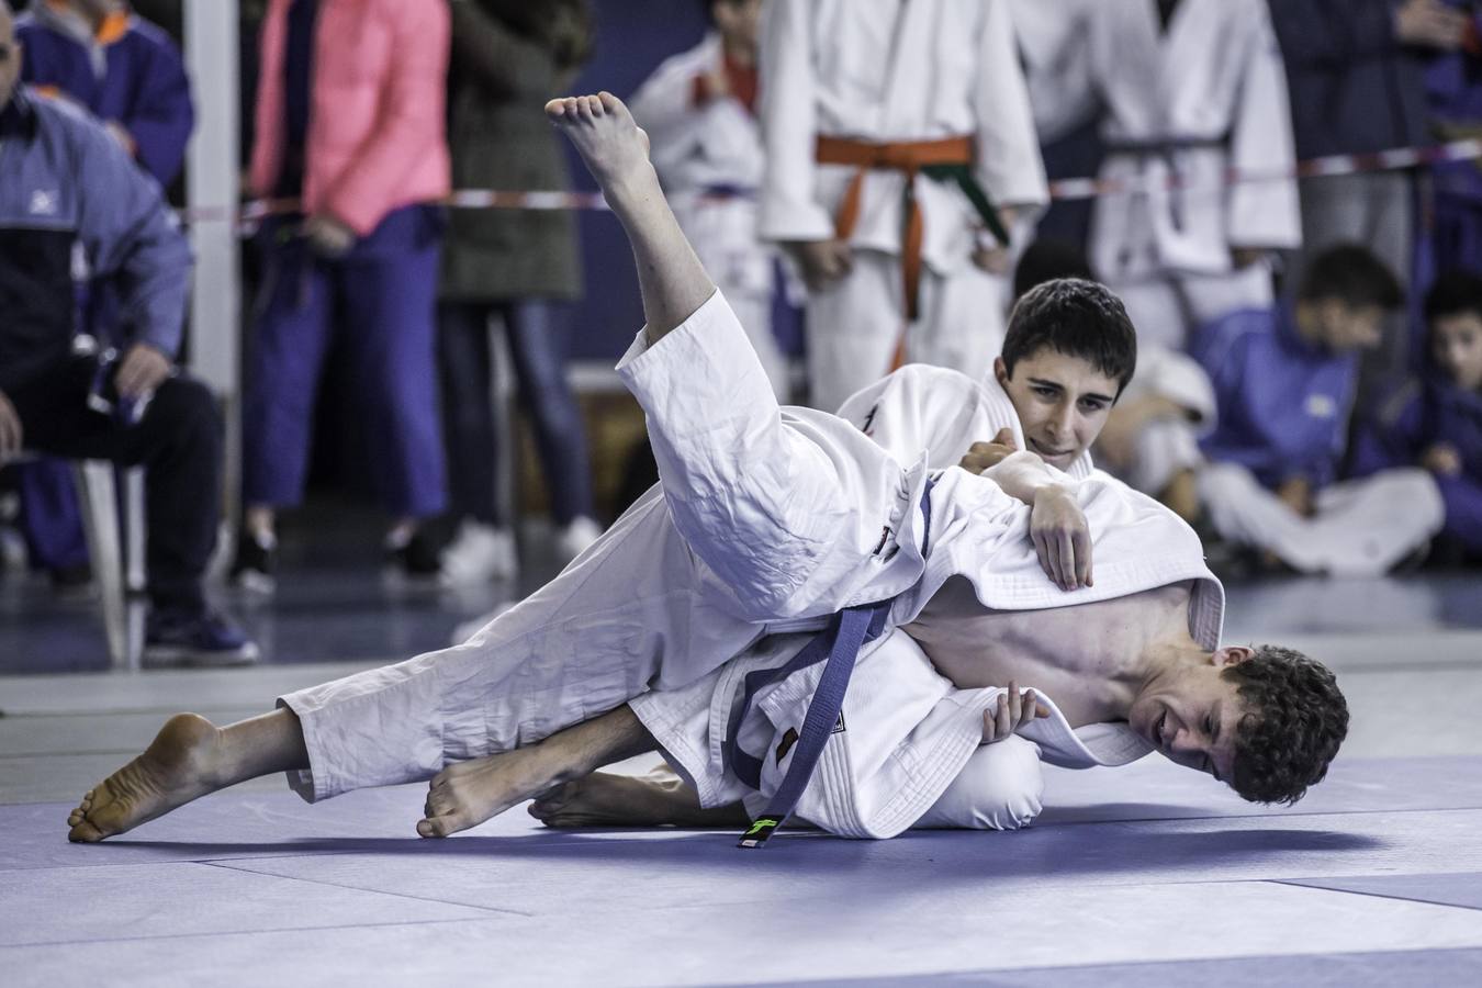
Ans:
{"type": "Polygon", "coordinates": [[[999,357],[993,373],[1018,412],[1029,449],[1060,470],[1097,441],[1119,391],[1114,378],[1083,357],[1067,357],[1049,347],[1021,358],[1012,376],[999,357]]]}

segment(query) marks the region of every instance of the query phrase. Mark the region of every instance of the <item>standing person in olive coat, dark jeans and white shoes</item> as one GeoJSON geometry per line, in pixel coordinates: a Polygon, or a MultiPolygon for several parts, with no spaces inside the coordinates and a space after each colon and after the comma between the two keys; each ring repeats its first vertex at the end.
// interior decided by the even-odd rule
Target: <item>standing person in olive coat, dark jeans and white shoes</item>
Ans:
{"type": "MultiPolygon", "coordinates": [[[[452,154],[459,188],[565,190],[565,148],[545,102],[565,92],[591,52],[585,0],[455,0],[452,154]]],[[[566,210],[455,210],[443,264],[439,338],[453,513],[443,553],[446,584],[514,576],[514,535],[495,496],[489,401],[489,320],[504,323],[520,404],[559,526],[574,558],[600,533],[581,410],[566,381],[566,302],[581,296],[576,219],[566,210]]],[[[513,450],[505,452],[513,458],[513,450]]]]}

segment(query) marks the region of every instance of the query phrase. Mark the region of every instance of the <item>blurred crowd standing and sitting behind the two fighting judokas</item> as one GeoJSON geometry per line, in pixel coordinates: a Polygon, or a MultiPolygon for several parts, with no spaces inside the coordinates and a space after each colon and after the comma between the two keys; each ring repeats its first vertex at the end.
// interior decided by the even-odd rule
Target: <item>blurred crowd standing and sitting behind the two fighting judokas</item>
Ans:
{"type": "MultiPolygon", "coordinates": [[[[694,1],[700,43],[618,95],[780,400],[834,410],[907,363],[1009,387],[1015,299],[1094,278],[1137,373],[1109,401],[1030,381],[1034,452],[1092,444],[1230,576],[1482,558],[1482,169],[1377,154],[1482,138],[1470,0],[694,1]]],[[[246,193],[295,207],[252,234],[233,579],[273,593],[326,387],[369,450],[388,566],[516,576],[498,354],[574,558],[606,514],[566,373],[591,281],[575,215],[443,203],[571,188],[542,107],[602,44],[593,3],[240,12],[246,193]]],[[[68,464],[142,465],[151,655],[249,661],[202,593],[222,444],[179,369],[181,3],[0,21],[7,514],[31,567],[84,584],[68,464]]]]}

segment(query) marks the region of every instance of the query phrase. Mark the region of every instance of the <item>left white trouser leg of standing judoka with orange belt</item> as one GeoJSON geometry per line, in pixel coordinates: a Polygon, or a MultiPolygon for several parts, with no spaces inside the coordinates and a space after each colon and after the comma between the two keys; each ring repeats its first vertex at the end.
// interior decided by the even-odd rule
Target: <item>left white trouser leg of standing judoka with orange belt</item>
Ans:
{"type": "Polygon", "coordinates": [[[889,373],[906,321],[903,290],[897,255],[855,250],[849,274],[809,292],[808,404],[833,412],[889,373]]]}

